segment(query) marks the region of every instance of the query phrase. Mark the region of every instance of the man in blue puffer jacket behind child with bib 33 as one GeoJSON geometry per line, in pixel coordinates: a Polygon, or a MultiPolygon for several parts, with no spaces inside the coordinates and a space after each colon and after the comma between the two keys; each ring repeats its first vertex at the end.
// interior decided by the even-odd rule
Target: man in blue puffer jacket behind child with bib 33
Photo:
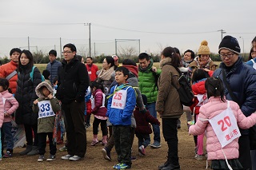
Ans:
{"type": "Polygon", "coordinates": [[[50,83],[51,85],[54,84],[54,78],[58,75],[58,67],[62,65],[60,61],[56,60],[57,57],[57,51],[54,49],[51,49],[49,52],[49,63],[46,66],[46,69],[50,72],[50,83]]]}

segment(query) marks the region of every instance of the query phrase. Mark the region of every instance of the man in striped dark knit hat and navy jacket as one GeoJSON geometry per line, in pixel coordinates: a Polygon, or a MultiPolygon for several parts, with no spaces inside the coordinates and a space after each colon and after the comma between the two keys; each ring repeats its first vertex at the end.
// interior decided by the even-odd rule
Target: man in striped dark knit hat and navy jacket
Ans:
{"type": "MultiPolygon", "coordinates": [[[[214,72],[214,77],[220,77],[225,87],[227,100],[235,101],[242,113],[248,117],[256,111],[256,72],[242,61],[238,40],[226,36],[218,46],[222,63],[214,72]]],[[[243,169],[251,169],[249,130],[240,129],[239,158],[243,169]]],[[[223,160],[225,161],[225,160],[223,160]]]]}

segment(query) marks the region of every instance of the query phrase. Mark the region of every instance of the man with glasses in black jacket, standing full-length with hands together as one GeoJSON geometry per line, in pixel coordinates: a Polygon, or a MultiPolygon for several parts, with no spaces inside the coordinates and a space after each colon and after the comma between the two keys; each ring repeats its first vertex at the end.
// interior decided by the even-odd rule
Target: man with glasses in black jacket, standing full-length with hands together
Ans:
{"type": "Polygon", "coordinates": [[[89,86],[86,65],[78,61],[73,44],[63,47],[64,60],[58,69],[56,97],[62,101],[66,121],[67,155],[62,160],[81,160],[86,154],[85,95],[89,86]]]}

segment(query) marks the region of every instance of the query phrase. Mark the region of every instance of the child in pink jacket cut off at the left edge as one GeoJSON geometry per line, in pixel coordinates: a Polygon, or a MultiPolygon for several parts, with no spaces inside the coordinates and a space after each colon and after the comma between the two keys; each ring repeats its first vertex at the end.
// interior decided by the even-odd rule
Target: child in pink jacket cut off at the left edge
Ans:
{"type": "MultiPolygon", "coordinates": [[[[6,153],[4,158],[11,157],[13,155],[14,137],[11,134],[12,129],[12,113],[18,109],[18,101],[8,91],[9,81],[5,78],[0,78],[0,136],[1,130],[6,138],[6,153]],[[2,129],[1,129],[2,128],[2,129]]],[[[0,140],[3,144],[4,139],[0,140]]],[[[0,144],[0,160],[2,160],[2,144],[0,144]]]]}

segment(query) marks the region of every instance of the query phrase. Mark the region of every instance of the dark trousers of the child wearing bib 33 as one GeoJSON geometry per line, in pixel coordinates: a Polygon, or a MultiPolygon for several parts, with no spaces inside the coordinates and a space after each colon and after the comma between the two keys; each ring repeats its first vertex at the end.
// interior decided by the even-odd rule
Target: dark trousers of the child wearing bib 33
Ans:
{"type": "Polygon", "coordinates": [[[49,138],[50,155],[55,155],[57,148],[53,142],[53,132],[40,132],[38,133],[38,150],[39,155],[44,155],[46,153],[46,136],[49,138]]]}

